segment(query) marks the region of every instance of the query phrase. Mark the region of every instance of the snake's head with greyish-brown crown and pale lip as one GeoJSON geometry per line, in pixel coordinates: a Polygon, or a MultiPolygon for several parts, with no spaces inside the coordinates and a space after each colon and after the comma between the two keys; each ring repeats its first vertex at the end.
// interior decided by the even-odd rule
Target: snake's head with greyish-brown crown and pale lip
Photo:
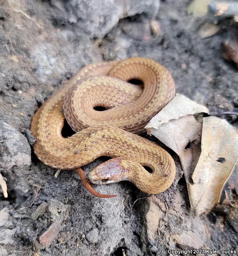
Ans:
{"type": "Polygon", "coordinates": [[[116,157],[99,164],[88,174],[89,180],[94,184],[109,184],[122,180],[128,180],[127,170],[123,167],[122,161],[125,158],[116,157]]]}

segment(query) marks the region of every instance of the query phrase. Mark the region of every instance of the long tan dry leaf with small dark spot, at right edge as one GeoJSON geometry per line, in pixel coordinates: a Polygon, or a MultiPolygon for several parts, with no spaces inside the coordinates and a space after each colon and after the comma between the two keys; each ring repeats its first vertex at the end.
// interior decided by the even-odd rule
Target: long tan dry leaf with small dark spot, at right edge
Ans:
{"type": "Polygon", "coordinates": [[[191,208],[197,214],[219,202],[238,159],[238,132],[226,120],[203,118],[202,151],[188,185],[191,208]]]}

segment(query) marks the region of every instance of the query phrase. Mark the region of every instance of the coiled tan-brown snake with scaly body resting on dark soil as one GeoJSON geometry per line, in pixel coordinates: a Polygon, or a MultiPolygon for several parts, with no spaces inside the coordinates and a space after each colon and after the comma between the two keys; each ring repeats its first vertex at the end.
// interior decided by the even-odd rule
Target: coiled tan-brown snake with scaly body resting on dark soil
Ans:
{"type": "Polygon", "coordinates": [[[133,57],[89,64],[36,111],[31,123],[34,153],[52,168],[75,169],[84,184],[81,167],[109,156],[88,174],[92,183],[129,180],[145,193],[161,193],[175,178],[174,160],[140,135],[174,95],[171,74],[154,60],[133,57]],[[69,137],[62,135],[66,122],[75,132],[69,137]]]}

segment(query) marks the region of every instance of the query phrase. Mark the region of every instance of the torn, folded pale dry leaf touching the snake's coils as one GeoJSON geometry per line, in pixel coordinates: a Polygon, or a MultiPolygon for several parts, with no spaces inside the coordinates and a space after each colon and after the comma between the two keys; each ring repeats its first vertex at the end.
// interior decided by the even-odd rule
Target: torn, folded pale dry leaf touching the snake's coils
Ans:
{"type": "Polygon", "coordinates": [[[193,116],[201,112],[209,113],[206,107],[178,94],[145,127],[148,134],[153,134],[177,153],[187,183],[191,183],[191,170],[201,152],[202,124],[193,116]]]}

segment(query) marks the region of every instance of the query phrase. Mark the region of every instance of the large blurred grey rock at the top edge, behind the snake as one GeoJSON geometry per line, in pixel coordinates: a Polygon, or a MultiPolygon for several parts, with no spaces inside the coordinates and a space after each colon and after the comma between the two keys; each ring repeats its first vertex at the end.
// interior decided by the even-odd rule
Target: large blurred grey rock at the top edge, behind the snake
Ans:
{"type": "Polygon", "coordinates": [[[136,14],[146,14],[154,18],[159,10],[159,0],[71,0],[59,2],[51,0],[51,4],[60,9],[57,17],[59,23],[76,23],[90,34],[91,38],[103,38],[120,19],[136,14]],[[60,7],[59,7],[60,3],[60,7]]]}

